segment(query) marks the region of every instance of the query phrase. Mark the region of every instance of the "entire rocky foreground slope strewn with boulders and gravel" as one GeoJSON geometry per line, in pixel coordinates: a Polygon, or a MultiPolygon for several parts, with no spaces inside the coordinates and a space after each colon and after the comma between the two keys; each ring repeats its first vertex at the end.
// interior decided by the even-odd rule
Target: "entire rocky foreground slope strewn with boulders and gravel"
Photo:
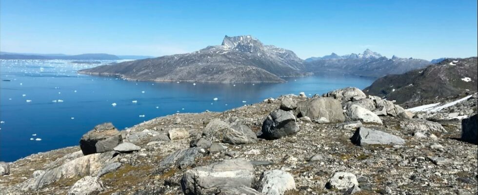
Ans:
{"type": "Polygon", "coordinates": [[[0,163],[0,192],[475,195],[477,97],[442,107],[410,112],[344,88],[123,131],[104,123],[80,146],[0,163]]]}

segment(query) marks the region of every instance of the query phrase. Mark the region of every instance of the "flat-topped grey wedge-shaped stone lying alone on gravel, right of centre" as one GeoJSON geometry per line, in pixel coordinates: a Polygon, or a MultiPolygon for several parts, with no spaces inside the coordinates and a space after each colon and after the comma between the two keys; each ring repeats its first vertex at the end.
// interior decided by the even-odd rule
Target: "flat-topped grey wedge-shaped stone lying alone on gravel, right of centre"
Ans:
{"type": "Polygon", "coordinates": [[[359,146],[373,145],[373,144],[395,144],[403,145],[405,140],[400,137],[381,132],[378,130],[372,130],[365,127],[360,127],[350,138],[352,143],[359,146]]]}

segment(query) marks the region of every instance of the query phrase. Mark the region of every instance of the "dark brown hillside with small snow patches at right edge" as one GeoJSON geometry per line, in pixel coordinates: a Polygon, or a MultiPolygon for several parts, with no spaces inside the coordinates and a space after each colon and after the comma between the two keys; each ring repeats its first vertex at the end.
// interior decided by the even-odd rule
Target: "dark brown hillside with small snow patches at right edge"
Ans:
{"type": "Polygon", "coordinates": [[[478,91],[477,57],[445,59],[424,69],[378,78],[366,94],[407,103],[478,91]]]}

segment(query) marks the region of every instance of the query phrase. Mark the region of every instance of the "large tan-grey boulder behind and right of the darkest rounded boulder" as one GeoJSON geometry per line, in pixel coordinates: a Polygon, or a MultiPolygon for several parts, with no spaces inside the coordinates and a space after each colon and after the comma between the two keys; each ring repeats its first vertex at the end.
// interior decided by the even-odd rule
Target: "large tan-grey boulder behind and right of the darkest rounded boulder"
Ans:
{"type": "Polygon", "coordinates": [[[297,103],[300,116],[309,117],[312,120],[325,118],[329,122],[343,122],[342,106],[339,100],[334,98],[312,98],[297,103]]]}

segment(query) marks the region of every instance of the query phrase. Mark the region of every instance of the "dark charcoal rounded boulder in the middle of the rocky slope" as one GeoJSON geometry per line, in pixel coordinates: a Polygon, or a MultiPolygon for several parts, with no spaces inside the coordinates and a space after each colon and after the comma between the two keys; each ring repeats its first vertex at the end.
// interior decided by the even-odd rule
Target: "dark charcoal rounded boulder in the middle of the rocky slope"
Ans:
{"type": "Polygon", "coordinates": [[[264,139],[279,139],[299,131],[296,117],[283,110],[272,111],[262,123],[258,137],[264,139]]]}

